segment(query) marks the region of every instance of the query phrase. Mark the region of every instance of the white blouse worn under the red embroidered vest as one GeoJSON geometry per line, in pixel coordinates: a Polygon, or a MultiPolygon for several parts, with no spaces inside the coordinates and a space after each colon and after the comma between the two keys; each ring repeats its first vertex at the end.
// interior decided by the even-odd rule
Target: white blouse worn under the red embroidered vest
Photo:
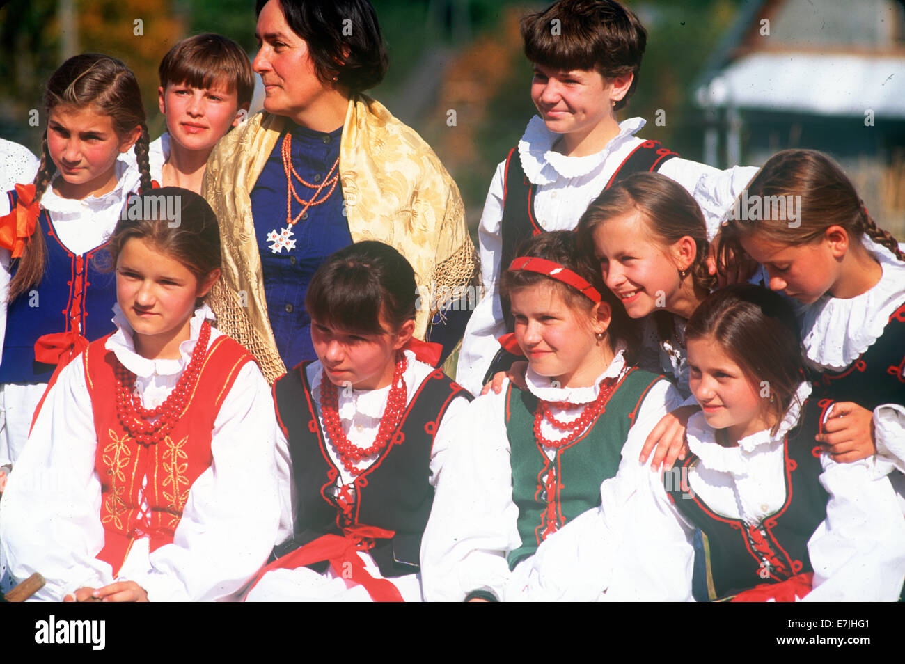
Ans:
{"type": "MultiPolygon", "coordinates": [[[[131,328],[117,310],[119,331],[106,347],[137,375],[146,407],[162,403],[176,385],[205,318],[213,318],[210,309],[198,308],[178,359],[149,360],[135,352],[131,328]]],[[[210,341],[219,336],[212,329],[210,341]]],[[[229,599],[266,562],[276,535],[273,422],[270,388],[250,362],[214,420],[213,461],[189,491],[173,543],[148,553],[148,539],[138,540],[114,579],[110,564],[95,557],[104,545],[98,437],[79,356],[48,392],[0,502],[4,589],[39,572],[47,584],[35,600],[58,602],[115,580],[138,583],[154,602],[229,599]]]]}

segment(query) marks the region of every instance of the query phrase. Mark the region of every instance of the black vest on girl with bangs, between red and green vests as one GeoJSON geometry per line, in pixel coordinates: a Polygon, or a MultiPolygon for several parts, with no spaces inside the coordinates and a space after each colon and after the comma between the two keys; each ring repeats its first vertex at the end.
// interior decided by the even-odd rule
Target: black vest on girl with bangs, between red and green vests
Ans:
{"type": "MultiPolygon", "coordinates": [[[[277,417],[289,441],[296,514],[294,535],[274,549],[274,558],[319,536],[341,535],[343,526],[376,526],[395,532],[391,540],[377,540],[369,552],[380,574],[414,574],[419,569],[421,537],[433,505],[433,487],[428,481],[433,436],[452,400],[471,401],[472,395],[439,369],[428,375],[417,386],[386,450],[352,482],[355,501],[351,513],[344,517],[332,491],[339,471],[320,430],[305,375],[307,365],[296,366],[273,385],[277,417]]],[[[322,573],[327,563],[310,567],[322,573]]]]}

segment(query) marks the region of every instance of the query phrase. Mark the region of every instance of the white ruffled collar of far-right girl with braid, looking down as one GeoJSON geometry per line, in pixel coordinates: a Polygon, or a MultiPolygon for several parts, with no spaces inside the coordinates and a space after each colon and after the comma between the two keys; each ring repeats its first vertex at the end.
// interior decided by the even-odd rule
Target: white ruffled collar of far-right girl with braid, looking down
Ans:
{"type": "Polygon", "coordinates": [[[866,235],[863,244],[880,261],[880,281],[854,298],[824,296],[805,308],[805,355],[824,369],[841,371],[851,365],[881,337],[892,313],[905,302],[905,263],[866,235]]]}

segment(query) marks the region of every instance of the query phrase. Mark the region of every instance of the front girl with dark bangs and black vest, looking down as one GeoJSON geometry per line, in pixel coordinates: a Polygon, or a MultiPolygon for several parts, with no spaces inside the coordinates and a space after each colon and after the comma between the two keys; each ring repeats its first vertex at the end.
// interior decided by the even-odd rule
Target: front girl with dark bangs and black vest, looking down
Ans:
{"type": "Polygon", "coordinates": [[[421,539],[471,394],[412,337],[414,271],[382,242],[332,254],[305,296],[318,360],[273,385],[282,517],[249,601],[420,602],[421,539]]]}

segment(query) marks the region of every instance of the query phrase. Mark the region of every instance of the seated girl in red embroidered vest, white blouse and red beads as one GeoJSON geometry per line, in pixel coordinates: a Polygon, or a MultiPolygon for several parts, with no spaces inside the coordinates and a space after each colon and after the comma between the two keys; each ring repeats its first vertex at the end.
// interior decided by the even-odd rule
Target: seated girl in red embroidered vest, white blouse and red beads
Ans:
{"type": "Polygon", "coordinates": [[[176,187],[179,216],[121,220],[110,239],[117,331],[52,382],[3,496],[4,589],[34,598],[228,599],[279,521],[270,390],[198,304],[220,275],[216,217],[176,187]]]}

